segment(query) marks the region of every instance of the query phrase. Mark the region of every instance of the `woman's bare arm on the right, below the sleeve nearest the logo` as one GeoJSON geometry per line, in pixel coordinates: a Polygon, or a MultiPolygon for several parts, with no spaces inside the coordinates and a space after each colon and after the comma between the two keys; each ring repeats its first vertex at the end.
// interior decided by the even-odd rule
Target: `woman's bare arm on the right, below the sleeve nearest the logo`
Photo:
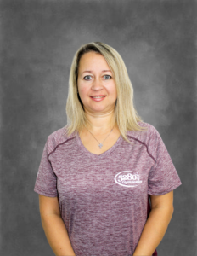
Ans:
{"type": "Polygon", "coordinates": [[[166,233],[174,211],[173,190],[165,195],[150,195],[151,211],[132,256],[152,256],[166,233]]]}

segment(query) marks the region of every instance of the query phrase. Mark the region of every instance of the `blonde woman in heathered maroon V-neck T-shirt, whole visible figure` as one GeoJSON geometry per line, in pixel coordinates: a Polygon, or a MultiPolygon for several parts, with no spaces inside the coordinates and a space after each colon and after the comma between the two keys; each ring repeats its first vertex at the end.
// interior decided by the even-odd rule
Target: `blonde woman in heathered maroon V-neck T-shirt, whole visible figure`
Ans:
{"type": "Polygon", "coordinates": [[[34,189],[55,255],[157,255],[181,181],[132,96],[115,49],[99,42],[78,49],[69,122],[48,136],[34,189]]]}

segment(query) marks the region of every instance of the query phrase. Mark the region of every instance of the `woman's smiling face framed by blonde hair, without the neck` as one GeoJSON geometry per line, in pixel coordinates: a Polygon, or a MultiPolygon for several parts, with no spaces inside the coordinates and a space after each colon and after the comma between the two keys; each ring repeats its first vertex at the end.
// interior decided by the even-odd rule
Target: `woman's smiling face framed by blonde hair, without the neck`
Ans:
{"type": "Polygon", "coordinates": [[[85,111],[106,113],[115,108],[117,98],[115,80],[103,55],[95,52],[82,55],[77,85],[85,111]],[[104,97],[93,99],[93,96],[104,97]]]}

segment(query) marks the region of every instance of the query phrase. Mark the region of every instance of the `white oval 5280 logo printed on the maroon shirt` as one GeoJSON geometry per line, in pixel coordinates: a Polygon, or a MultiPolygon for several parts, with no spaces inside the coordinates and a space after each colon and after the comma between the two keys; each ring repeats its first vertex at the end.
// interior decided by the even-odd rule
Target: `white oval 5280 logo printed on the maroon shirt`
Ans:
{"type": "Polygon", "coordinates": [[[132,171],[122,171],[115,175],[115,183],[124,187],[137,187],[142,181],[138,172],[132,174],[132,171]]]}

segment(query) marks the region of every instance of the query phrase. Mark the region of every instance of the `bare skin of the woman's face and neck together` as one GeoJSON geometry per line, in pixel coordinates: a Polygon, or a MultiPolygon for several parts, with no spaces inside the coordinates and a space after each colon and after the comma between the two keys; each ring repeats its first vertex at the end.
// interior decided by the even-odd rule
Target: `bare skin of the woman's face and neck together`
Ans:
{"type": "Polygon", "coordinates": [[[82,55],[78,74],[79,96],[90,122],[87,128],[94,135],[105,134],[115,124],[114,108],[117,99],[115,80],[110,67],[103,55],[88,52],[82,55]],[[98,95],[105,95],[104,101],[95,102],[90,97],[98,95]]]}

